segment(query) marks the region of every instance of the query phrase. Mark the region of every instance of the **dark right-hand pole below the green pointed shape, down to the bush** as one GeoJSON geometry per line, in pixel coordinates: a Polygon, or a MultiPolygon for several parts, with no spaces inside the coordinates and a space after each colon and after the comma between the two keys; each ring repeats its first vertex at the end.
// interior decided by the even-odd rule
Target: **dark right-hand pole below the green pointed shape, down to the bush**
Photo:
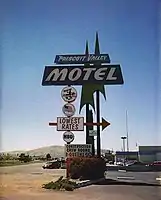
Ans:
{"type": "MultiPolygon", "coordinates": [[[[97,123],[100,123],[100,96],[99,96],[99,91],[96,91],[96,108],[97,108],[97,123]]],[[[97,156],[101,157],[100,126],[97,126],[97,156]]]]}

